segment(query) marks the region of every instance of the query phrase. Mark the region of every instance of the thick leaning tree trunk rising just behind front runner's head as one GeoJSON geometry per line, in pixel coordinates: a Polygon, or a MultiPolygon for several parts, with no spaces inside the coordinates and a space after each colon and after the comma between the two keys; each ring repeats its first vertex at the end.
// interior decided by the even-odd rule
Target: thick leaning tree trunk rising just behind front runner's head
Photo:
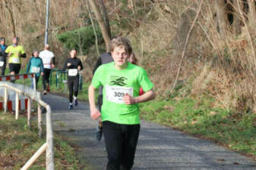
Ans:
{"type": "Polygon", "coordinates": [[[106,51],[110,51],[110,35],[108,32],[108,29],[106,28],[106,25],[104,23],[104,19],[102,14],[100,14],[99,8],[96,5],[96,2],[94,0],[89,0],[90,6],[92,8],[93,13],[96,16],[96,20],[98,21],[100,25],[101,32],[103,34],[103,39],[106,43],[106,51]]]}

